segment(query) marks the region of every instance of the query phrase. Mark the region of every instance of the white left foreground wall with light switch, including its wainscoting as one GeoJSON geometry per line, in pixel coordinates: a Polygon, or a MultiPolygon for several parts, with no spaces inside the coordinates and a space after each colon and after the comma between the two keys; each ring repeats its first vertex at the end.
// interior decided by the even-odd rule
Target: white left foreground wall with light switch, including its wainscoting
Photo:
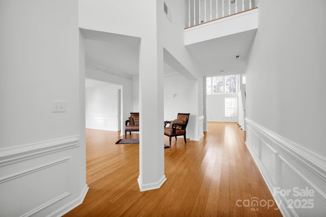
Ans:
{"type": "Polygon", "coordinates": [[[0,2],[1,216],[60,215],[88,190],[77,9],[76,0],[0,2]],[[66,112],[52,113],[52,100],[66,112]]]}

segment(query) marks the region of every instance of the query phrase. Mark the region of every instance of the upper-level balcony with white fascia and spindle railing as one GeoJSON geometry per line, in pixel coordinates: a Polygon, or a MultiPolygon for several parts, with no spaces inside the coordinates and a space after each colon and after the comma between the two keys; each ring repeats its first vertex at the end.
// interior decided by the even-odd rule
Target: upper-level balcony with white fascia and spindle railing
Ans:
{"type": "Polygon", "coordinates": [[[258,28],[257,0],[187,0],[184,45],[258,28]]]}

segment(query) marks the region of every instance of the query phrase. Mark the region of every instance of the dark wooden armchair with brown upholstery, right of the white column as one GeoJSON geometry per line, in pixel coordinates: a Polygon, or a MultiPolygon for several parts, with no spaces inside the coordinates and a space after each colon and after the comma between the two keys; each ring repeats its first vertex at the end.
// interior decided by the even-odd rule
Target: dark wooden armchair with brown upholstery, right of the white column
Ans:
{"type": "Polygon", "coordinates": [[[187,143],[185,139],[186,127],[188,124],[189,113],[178,113],[177,119],[171,121],[164,121],[164,135],[169,137],[170,147],[171,147],[171,138],[177,136],[183,136],[184,142],[187,143]],[[169,123],[169,126],[167,127],[169,123]]]}

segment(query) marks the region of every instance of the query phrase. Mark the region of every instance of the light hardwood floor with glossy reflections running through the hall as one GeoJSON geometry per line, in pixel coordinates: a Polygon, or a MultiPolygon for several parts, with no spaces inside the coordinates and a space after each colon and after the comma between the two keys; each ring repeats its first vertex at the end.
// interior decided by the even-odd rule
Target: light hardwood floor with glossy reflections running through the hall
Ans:
{"type": "Polygon", "coordinates": [[[173,138],[165,149],[167,181],[147,192],[137,182],[139,144],[115,144],[120,138],[117,132],[86,130],[90,189],[84,203],[65,216],[282,216],[276,205],[264,206],[274,200],[237,123],[208,122],[199,142],[173,138]],[[254,197],[260,206],[243,206],[254,197]]]}

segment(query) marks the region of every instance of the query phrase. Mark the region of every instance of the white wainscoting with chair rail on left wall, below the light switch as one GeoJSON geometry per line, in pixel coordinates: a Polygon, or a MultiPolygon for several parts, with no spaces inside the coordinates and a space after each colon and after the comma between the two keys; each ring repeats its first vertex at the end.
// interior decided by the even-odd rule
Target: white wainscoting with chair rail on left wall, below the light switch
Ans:
{"type": "Polygon", "coordinates": [[[81,203],[78,137],[0,150],[0,216],[51,216],[81,203]]]}

